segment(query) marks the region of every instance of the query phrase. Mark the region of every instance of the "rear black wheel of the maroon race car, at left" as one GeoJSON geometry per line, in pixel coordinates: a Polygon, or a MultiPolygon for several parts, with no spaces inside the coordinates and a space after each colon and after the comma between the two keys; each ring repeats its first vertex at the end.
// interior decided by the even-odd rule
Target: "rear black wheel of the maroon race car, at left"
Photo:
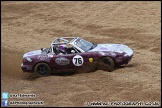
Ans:
{"type": "Polygon", "coordinates": [[[38,76],[48,76],[51,74],[51,68],[46,63],[38,63],[34,68],[34,72],[38,76]]]}

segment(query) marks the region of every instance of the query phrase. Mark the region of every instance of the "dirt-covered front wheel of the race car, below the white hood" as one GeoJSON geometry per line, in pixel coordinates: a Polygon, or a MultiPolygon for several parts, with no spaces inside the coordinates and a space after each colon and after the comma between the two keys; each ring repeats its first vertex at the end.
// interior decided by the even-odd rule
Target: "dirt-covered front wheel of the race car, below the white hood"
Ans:
{"type": "Polygon", "coordinates": [[[110,57],[103,57],[98,62],[98,69],[112,72],[115,69],[114,60],[110,57]]]}

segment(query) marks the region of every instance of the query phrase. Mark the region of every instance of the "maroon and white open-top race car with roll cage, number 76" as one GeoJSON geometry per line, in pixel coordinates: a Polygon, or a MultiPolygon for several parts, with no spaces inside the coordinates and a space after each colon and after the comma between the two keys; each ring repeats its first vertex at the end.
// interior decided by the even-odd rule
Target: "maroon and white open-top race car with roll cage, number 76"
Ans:
{"type": "Polygon", "coordinates": [[[60,37],[49,48],[25,53],[21,68],[39,76],[84,69],[111,72],[128,64],[132,56],[133,50],[124,44],[95,44],[80,37],[60,37]]]}

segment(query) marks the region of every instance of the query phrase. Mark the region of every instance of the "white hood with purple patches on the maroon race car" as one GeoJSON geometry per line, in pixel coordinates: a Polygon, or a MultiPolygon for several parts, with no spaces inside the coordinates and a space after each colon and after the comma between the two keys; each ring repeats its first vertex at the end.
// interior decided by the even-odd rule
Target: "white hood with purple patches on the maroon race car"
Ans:
{"type": "Polygon", "coordinates": [[[112,51],[112,52],[118,52],[118,53],[127,53],[127,55],[132,56],[133,50],[130,49],[128,46],[123,44],[97,44],[97,47],[95,47],[91,51],[112,51]]]}

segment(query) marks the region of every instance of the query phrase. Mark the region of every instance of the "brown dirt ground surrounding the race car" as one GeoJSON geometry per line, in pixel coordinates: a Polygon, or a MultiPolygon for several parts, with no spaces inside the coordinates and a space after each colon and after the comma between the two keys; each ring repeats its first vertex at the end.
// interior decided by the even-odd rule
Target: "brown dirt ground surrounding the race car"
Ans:
{"type": "Polygon", "coordinates": [[[42,106],[53,107],[94,101],[158,102],[161,106],[160,1],[1,3],[1,91],[36,94],[35,98],[9,101],[44,101],[42,106]],[[128,65],[113,72],[40,78],[23,73],[24,53],[49,47],[62,36],[122,43],[133,49],[134,56],[128,65]]]}

